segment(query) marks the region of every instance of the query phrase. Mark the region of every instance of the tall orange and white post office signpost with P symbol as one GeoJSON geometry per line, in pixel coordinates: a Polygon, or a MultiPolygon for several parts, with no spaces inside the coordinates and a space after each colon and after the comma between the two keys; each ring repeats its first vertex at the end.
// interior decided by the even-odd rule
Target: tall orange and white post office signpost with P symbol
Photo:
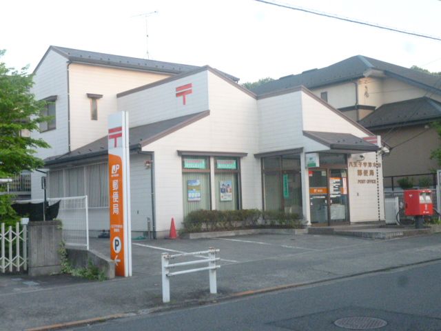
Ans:
{"type": "Polygon", "coordinates": [[[128,127],[128,113],[109,115],[110,258],[115,261],[115,274],[121,277],[132,276],[128,127]]]}

